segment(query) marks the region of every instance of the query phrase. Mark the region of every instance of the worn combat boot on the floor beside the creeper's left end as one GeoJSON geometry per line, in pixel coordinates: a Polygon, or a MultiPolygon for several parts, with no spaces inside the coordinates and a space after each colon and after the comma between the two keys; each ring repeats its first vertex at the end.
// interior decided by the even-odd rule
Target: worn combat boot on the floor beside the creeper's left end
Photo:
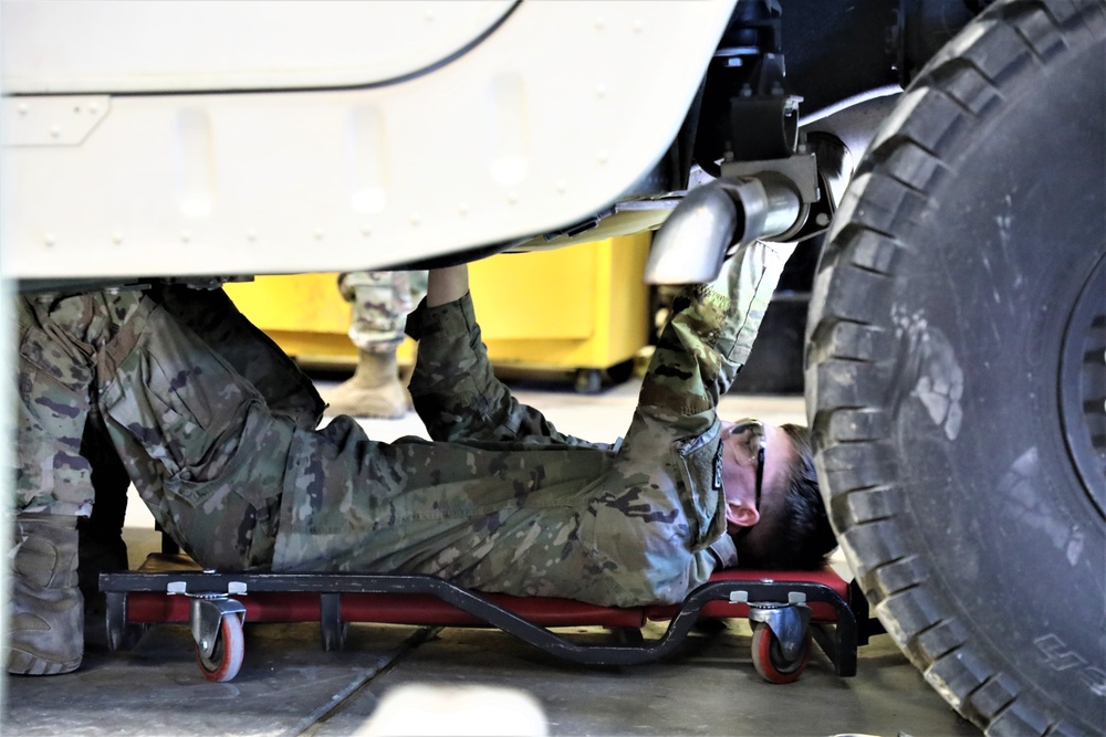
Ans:
{"type": "Polygon", "coordinates": [[[84,654],[76,517],[21,514],[14,527],[8,672],[75,671],[84,654]]]}

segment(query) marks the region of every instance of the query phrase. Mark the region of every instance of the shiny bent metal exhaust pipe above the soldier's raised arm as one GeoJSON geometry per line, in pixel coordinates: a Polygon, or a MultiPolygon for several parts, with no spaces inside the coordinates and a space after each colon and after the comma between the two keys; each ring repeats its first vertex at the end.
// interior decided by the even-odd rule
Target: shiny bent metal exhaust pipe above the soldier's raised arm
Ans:
{"type": "Polygon", "coordinates": [[[654,235],[645,283],[710,282],[731,245],[786,234],[796,229],[802,210],[790,180],[774,172],[692,189],[654,235]]]}

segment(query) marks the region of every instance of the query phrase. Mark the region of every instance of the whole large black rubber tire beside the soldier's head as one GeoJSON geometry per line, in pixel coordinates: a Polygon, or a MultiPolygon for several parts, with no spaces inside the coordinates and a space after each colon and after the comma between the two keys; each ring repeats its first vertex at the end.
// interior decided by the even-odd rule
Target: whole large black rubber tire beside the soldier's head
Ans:
{"type": "Polygon", "coordinates": [[[991,735],[1106,728],[1104,91],[1104,0],[989,8],[876,135],[812,297],[838,539],[991,735]]]}

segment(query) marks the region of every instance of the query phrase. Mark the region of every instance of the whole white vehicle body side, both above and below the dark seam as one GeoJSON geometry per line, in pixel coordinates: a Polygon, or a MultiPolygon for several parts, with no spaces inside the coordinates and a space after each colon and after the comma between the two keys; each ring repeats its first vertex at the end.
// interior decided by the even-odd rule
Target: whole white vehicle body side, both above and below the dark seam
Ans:
{"type": "Polygon", "coordinates": [[[6,273],[375,269],[577,222],[665,152],[734,3],[4,0],[6,273]]]}

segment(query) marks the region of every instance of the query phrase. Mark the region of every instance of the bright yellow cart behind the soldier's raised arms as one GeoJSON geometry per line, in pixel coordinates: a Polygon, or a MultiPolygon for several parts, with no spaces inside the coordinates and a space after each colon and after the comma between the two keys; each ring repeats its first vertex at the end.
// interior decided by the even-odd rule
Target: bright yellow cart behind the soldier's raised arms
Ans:
{"type": "MultiPolygon", "coordinates": [[[[500,254],[470,265],[472,299],[497,368],[568,371],[581,391],[603,375],[628,378],[649,341],[649,289],[641,275],[649,234],[553,251],[500,254]]],[[[336,274],[259,276],[228,284],[251,322],[304,367],[353,367],[349,305],[336,274]]],[[[400,349],[414,361],[414,344],[400,349]]]]}

